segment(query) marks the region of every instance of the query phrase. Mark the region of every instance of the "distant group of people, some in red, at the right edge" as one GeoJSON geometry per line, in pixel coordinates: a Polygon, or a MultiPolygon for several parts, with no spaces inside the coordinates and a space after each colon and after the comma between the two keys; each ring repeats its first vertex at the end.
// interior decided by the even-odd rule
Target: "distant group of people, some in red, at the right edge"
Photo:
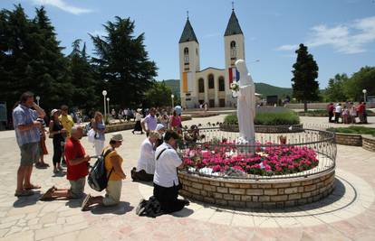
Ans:
{"type": "Polygon", "coordinates": [[[366,102],[364,101],[361,101],[358,106],[355,106],[353,102],[335,105],[330,103],[327,106],[327,111],[330,123],[367,124],[366,102]],[[359,118],[359,122],[356,118],[359,118]]]}

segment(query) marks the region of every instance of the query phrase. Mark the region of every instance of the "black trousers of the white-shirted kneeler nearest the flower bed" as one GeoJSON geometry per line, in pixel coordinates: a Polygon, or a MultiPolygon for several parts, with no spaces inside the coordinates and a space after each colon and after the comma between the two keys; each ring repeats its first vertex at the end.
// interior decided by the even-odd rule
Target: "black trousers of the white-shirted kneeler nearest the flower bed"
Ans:
{"type": "Polygon", "coordinates": [[[177,212],[184,209],[187,202],[178,199],[178,186],[164,188],[154,182],[154,197],[159,200],[164,213],[177,212]]]}

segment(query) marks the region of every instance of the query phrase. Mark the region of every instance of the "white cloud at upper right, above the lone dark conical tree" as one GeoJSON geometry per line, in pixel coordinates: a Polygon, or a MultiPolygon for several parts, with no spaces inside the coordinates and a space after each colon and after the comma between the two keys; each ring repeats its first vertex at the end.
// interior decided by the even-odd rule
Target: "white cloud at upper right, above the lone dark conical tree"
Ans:
{"type": "MultiPolygon", "coordinates": [[[[375,42],[375,16],[351,23],[329,27],[325,24],[312,27],[304,42],[308,47],[331,46],[335,51],[353,54],[367,51],[366,45],[375,42]]],[[[283,45],[278,51],[292,51],[293,44],[283,45]]]]}

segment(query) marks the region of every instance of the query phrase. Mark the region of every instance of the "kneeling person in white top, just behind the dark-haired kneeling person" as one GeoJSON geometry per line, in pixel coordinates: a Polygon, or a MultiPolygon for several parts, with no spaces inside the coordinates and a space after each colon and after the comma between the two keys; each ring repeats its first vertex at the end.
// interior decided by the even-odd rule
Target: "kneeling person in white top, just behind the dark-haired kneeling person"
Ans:
{"type": "Polygon", "coordinates": [[[140,156],[137,168],[131,170],[131,179],[133,181],[152,181],[155,172],[155,144],[159,140],[159,133],[150,131],[147,137],[140,145],[140,156]]]}

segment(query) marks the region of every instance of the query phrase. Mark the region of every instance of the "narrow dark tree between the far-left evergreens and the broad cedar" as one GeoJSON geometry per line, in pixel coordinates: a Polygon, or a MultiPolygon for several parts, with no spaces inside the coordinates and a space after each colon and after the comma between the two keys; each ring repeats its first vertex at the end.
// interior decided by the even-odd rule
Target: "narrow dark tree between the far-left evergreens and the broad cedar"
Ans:
{"type": "Polygon", "coordinates": [[[82,40],[72,42],[72,53],[68,56],[69,70],[72,73],[72,103],[74,106],[82,108],[87,113],[98,106],[100,96],[97,94],[97,80],[88,60],[86,53],[86,43],[82,40]]]}

